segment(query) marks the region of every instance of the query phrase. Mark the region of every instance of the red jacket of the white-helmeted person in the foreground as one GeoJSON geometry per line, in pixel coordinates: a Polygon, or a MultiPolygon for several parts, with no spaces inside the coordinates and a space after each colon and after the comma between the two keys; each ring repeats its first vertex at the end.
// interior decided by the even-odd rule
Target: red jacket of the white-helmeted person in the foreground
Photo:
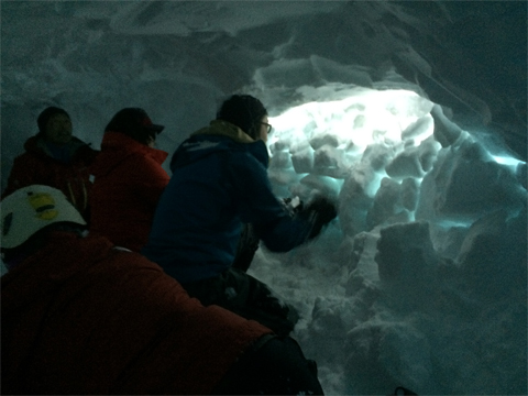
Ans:
{"type": "Polygon", "coordinates": [[[2,394],[208,394],[271,330],[139,253],[55,232],[1,278],[2,394]]]}

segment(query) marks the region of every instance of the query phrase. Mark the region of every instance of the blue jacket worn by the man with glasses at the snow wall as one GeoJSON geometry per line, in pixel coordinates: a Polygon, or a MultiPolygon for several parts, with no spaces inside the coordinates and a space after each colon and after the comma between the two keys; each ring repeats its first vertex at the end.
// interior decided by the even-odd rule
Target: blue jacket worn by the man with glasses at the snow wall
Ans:
{"type": "Polygon", "coordinates": [[[194,133],[176,150],[173,176],[158,201],[142,253],[180,283],[229,268],[242,223],[253,223],[265,245],[287,252],[308,239],[308,220],[292,218],[272,193],[268,153],[224,121],[194,133]]]}

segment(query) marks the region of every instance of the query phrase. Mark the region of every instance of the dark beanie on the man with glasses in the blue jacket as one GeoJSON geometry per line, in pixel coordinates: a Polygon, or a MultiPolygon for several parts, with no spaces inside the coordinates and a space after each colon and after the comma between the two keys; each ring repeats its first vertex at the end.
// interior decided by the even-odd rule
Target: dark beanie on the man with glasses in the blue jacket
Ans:
{"type": "Polygon", "coordinates": [[[217,120],[228,121],[255,139],[256,125],[264,116],[267,116],[267,110],[258,99],[250,95],[233,95],[222,103],[217,120]]]}

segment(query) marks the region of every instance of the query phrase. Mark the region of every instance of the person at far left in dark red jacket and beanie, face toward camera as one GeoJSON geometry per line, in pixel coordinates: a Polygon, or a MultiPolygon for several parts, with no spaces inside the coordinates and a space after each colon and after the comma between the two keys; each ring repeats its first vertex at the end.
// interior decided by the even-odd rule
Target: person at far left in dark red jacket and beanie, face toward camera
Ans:
{"type": "Polygon", "coordinates": [[[88,167],[98,151],[73,135],[66,110],[48,107],[37,118],[38,133],[25,144],[25,153],[14,158],[2,197],[41,184],[62,190],[89,220],[91,183],[88,167]]]}

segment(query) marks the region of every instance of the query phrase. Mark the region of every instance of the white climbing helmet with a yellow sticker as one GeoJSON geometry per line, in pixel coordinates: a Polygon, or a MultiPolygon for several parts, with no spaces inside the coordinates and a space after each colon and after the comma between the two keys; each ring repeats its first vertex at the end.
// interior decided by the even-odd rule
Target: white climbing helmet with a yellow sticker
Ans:
{"type": "Polygon", "coordinates": [[[86,226],[75,207],[58,189],[33,185],[18,189],[2,199],[1,249],[13,249],[43,228],[72,222],[86,226]]]}

